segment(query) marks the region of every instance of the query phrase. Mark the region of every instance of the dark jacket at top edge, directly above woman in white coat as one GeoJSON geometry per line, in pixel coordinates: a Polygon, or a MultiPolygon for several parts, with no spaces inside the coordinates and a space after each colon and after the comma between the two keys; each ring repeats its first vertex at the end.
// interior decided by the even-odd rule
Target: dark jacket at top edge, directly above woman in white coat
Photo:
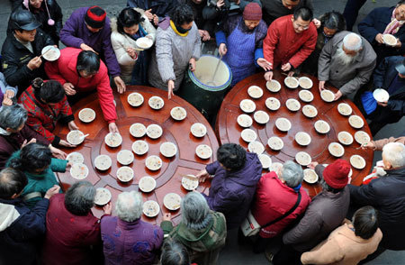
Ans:
{"type": "Polygon", "coordinates": [[[138,7],[143,10],[152,9],[152,14],[157,14],[159,18],[169,16],[170,11],[177,5],[176,0],[128,0],[127,6],[138,7]]]}

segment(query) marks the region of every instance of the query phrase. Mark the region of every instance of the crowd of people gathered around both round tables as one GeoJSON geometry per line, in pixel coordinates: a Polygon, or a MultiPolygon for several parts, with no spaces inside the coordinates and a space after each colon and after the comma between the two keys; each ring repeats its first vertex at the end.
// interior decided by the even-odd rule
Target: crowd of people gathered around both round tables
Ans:
{"type": "Polygon", "coordinates": [[[202,42],[216,41],[231,87],[257,72],[267,81],[274,70],[308,73],[320,91],[338,88],[334,100],[353,99],[375,135],[405,113],[404,0],[374,9],[358,34],[356,8],[315,18],[311,0],[128,0],[117,17],[94,5],[65,23],[56,0],[11,2],[0,72],[0,264],[216,264],[230,231],[273,264],[357,264],[405,250],[405,136],[362,146],[383,151],[384,173],[362,186],[350,184],[347,160],[311,162],[322,187],[312,198],[300,165],[285,161],[262,176],[256,153],[223,144],[196,176],[211,178],[209,194],[184,196],[179,224],[165,214],[153,225],[140,218],[137,191],[103,206],[101,218],[90,182],[62,191],[55,172],[72,164],[59,148],[75,145],[53,133],[59,122],[77,130],[70,105],[94,92],[109,132],[120,133],[113,93],[143,85],[174,96],[202,42]],[[60,57],[44,59],[43,48],[59,41],[60,57]],[[376,88],[389,99],[377,102],[376,88]],[[279,251],[268,251],[273,242],[279,251]]]}

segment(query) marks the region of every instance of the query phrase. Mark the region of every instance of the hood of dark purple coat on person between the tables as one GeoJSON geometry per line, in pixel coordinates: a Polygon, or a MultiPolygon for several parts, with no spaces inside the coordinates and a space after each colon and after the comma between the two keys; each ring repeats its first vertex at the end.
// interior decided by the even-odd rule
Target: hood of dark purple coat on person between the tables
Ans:
{"type": "Polygon", "coordinates": [[[226,171],[226,177],[230,175],[233,181],[243,186],[256,186],[257,181],[262,177],[262,163],[256,153],[246,152],[246,163],[243,169],[238,171],[226,171]]]}

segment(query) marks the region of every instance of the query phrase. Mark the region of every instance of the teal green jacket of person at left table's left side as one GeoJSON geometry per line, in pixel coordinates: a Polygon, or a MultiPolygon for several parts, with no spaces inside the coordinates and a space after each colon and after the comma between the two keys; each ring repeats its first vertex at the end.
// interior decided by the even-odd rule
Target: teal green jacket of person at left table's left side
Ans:
{"type": "MultiPolygon", "coordinates": [[[[14,151],[12,156],[7,160],[5,167],[8,167],[10,165],[10,160],[18,158],[19,156],[20,151],[14,151]]],[[[28,178],[28,184],[24,187],[21,197],[23,198],[24,196],[32,192],[40,192],[41,195],[32,197],[31,199],[26,201],[24,200],[25,205],[29,208],[32,208],[37,204],[37,202],[42,199],[43,196],[45,196],[45,193],[50,187],[59,185],[58,180],[53,172],[65,172],[66,166],[67,160],[51,159],[48,169],[45,169],[40,174],[32,174],[28,171],[23,171],[25,176],[27,176],[28,178]]],[[[62,191],[60,190],[60,193],[61,192],[62,191]]]]}

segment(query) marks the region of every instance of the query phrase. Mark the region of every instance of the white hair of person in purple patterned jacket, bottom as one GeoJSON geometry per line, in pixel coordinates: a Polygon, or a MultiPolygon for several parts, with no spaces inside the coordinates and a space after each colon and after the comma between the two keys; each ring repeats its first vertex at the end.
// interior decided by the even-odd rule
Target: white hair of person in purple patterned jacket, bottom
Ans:
{"type": "Polygon", "coordinates": [[[142,196],[138,191],[122,192],[115,204],[118,217],[125,222],[133,222],[142,214],[142,196]]]}

